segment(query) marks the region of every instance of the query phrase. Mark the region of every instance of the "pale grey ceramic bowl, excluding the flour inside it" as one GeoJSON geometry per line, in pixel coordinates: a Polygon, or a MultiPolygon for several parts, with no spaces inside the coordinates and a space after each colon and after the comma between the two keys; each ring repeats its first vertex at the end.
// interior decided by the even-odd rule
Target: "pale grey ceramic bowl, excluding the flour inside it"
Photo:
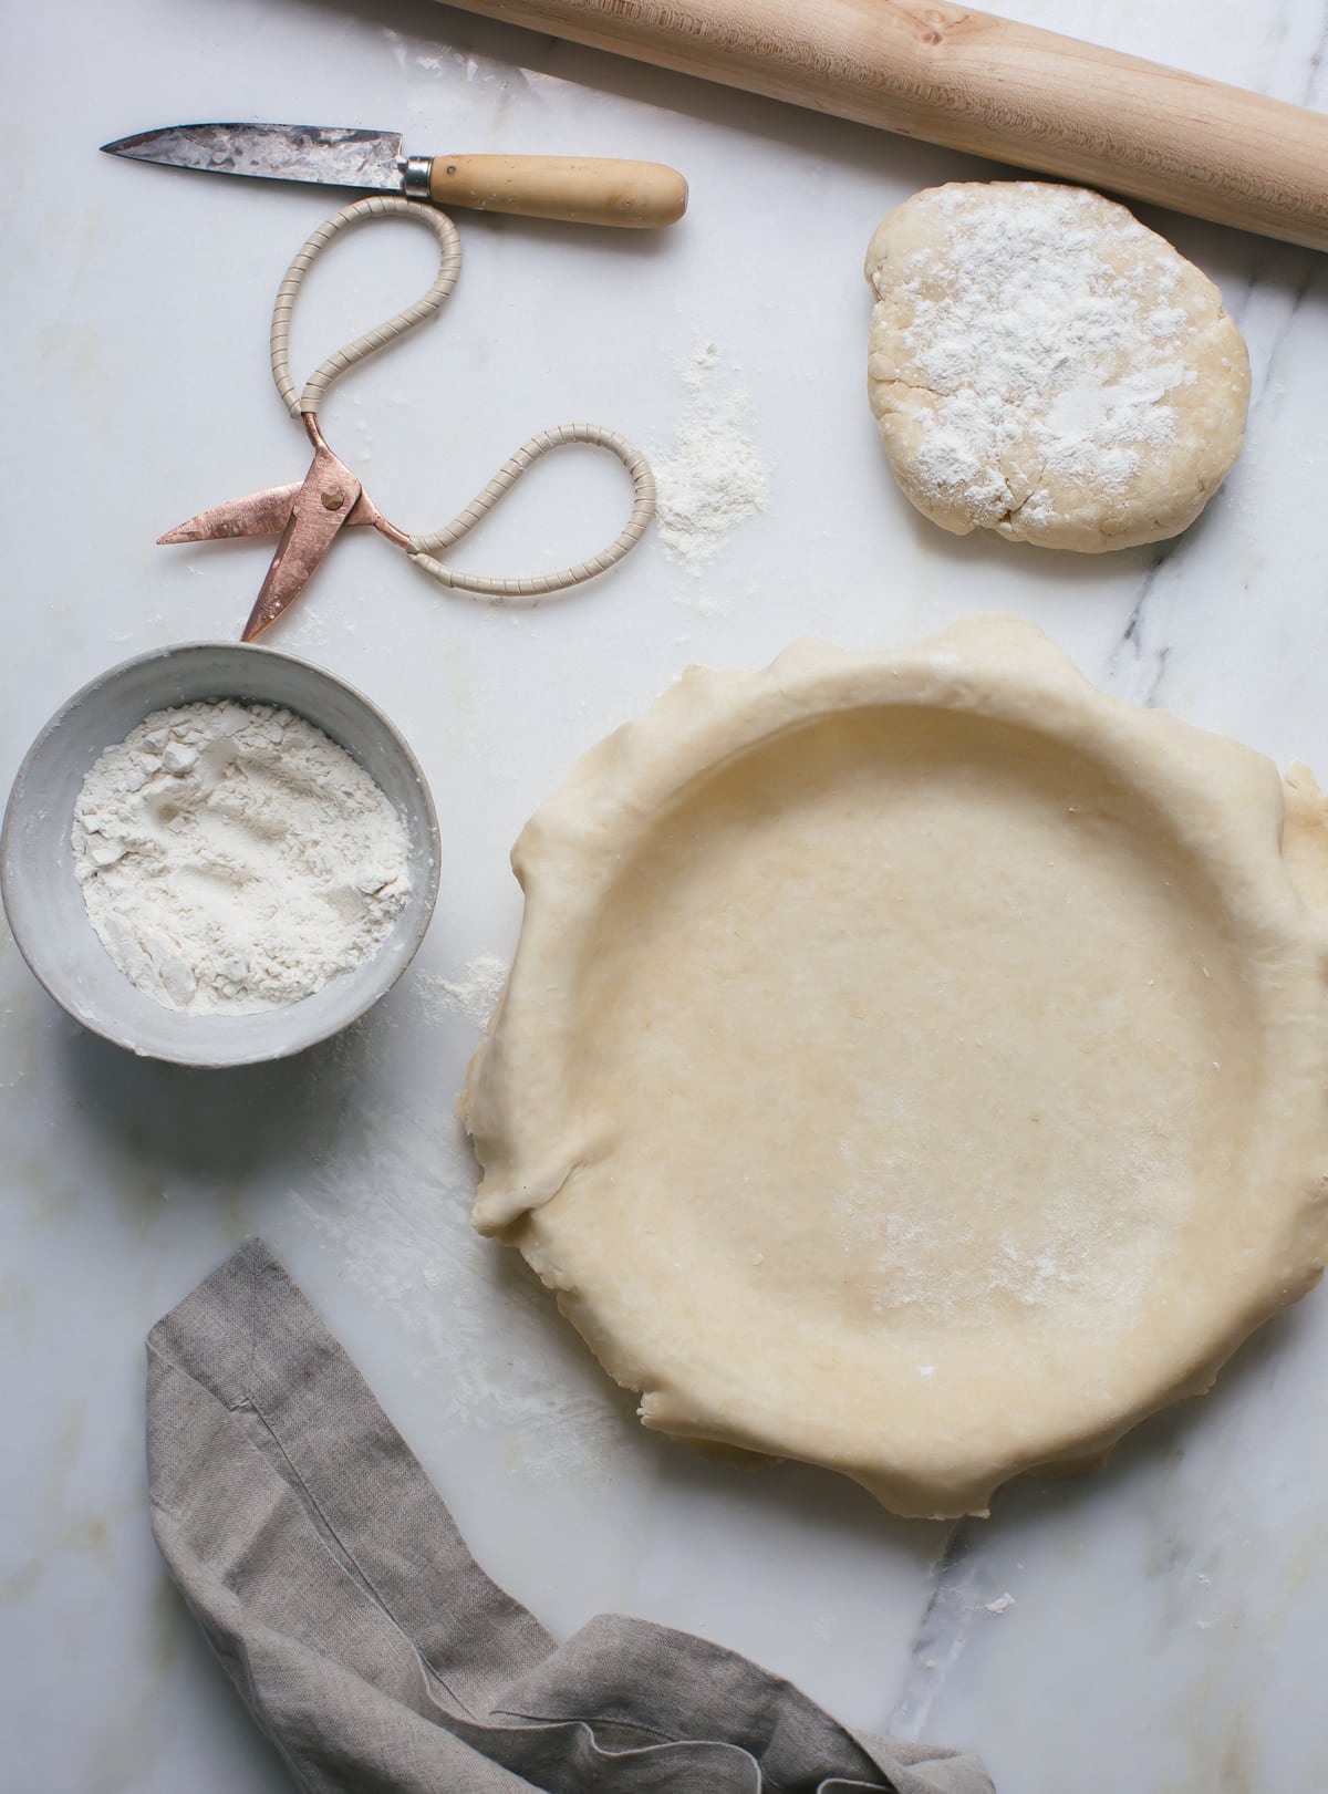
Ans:
{"type": "Polygon", "coordinates": [[[325,1041],[397,983],[438,895],[438,818],[409,746],[352,685],[269,648],[190,642],[111,667],[47,723],[9,795],[0,893],[20,953],[84,1028],[179,1066],[249,1066],[325,1041]],[[276,703],[307,718],[373,777],[409,840],[411,893],[382,947],[314,996],[255,1015],[190,1015],[138,990],[93,933],[74,875],[74,804],[97,757],[151,710],[201,698],[276,703]]]}

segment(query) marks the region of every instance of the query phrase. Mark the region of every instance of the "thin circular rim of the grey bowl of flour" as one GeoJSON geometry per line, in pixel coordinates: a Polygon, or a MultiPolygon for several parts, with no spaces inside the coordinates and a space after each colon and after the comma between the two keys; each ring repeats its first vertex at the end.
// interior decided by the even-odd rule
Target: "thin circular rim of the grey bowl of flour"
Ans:
{"type": "MultiPolygon", "coordinates": [[[[267,700],[260,700],[260,701],[267,701],[267,700]]],[[[298,707],[293,705],[291,709],[293,709],[293,714],[303,716],[303,712],[298,707]]],[[[151,714],[151,712],[145,712],[145,714],[151,714]]],[[[321,723],[314,721],[314,718],[303,716],[303,719],[309,721],[309,723],[312,723],[314,728],[321,728],[323,727],[321,723]]],[[[328,739],[336,739],[336,737],[328,737],[328,739]]],[[[337,746],[343,748],[343,752],[350,753],[352,759],[355,759],[355,755],[352,753],[350,748],[345,746],[345,743],[337,743],[337,746]]],[[[357,764],[359,764],[359,761],[357,761],[357,764]]],[[[370,777],[373,777],[373,775],[370,773],[370,777]]],[[[77,1023],[81,1028],[86,1028],[88,1033],[95,1033],[99,1039],[108,1041],[111,1046],[117,1046],[122,1051],[127,1051],[127,1053],[131,1053],[131,1055],[135,1055],[138,1058],[154,1058],[154,1060],[158,1060],[162,1064],[185,1066],[185,1067],[188,1067],[192,1071],[239,1071],[244,1066],[264,1066],[264,1064],[273,1064],[275,1060],[280,1060],[280,1058],[293,1058],[296,1053],[303,1053],[310,1046],[318,1046],[323,1041],[330,1041],[334,1035],[343,1033],[346,1028],[350,1028],[354,1023],[357,1023],[363,1015],[366,1015],[373,1008],[375,1003],[379,1003],[393,988],[393,985],[406,972],[406,969],[409,967],[411,960],[415,958],[415,954],[418,953],[420,945],[424,944],[424,936],[429,931],[429,924],[432,922],[434,908],[438,904],[438,884],[440,884],[440,879],[441,879],[441,840],[440,840],[440,832],[438,832],[438,811],[434,807],[432,791],[429,789],[429,780],[427,780],[427,777],[424,773],[424,766],[420,764],[415,750],[411,748],[409,741],[400,732],[400,728],[397,727],[397,723],[393,723],[393,719],[388,716],[388,712],[380,705],[377,705],[366,692],[363,692],[359,689],[359,685],[354,685],[350,680],[341,678],[339,673],[332,673],[328,667],[319,666],[316,660],[305,660],[300,655],[289,655],[289,653],[284,653],[280,648],[267,648],[267,646],[260,646],[258,642],[206,640],[206,639],[188,640],[188,642],[167,642],[163,648],[149,648],[149,649],[145,649],[140,655],[129,655],[126,660],[118,660],[118,662],[115,662],[115,666],[109,666],[102,673],[95,673],[90,680],[84,680],[84,684],[79,685],[79,689],[74,691],[50,714],[50,718],[41,725],[41,728],[32,737],[31,746],[23,753],[23,759],[18,762],[18,770],[14,771],[13,784],[9,786],[9,795],[5,797],[4,822],[0,822],[0,906],[4,906],[5,924],[9,927],[9,933],[11,933],[13,940],[14,940],[14,945],[18,947],[20,958],[23,960],[23,963],[27,965],[27,969],[32,972],[32,976],[36,978],[36,981],[41,985],[41,988],[47,992],[47,996],[52,999],[52,1003],[56,1003],[56,1006],[65,1015],[68,1015],[70,1021],[77,1023]],[[14,872],[16,854],[14,854],[13,834],[14,834],[14,807],[16,807],[14,800],[18,798],[18,793],[23,788],[27,775],[39,762],[41,753],[47,748],[47,743],[50,741],[50,737],[59,728],[65,727],[65,723],[68,721],[68,718],[74,716],[79,710],[79,707],[83,703],[86,703],[88,698],[93,696],[93,692],[99,692],[99,691],[108,689],[109,685],[115,685],[127,673],[133,673],[136,667],[147,666],[147,664],[151,664],[154,660],[169,662],[169,660],[174,660],[178,657],[194,655],[194,653],[201,653],[201,651],[217,653],[217,649],[223,649],[223,651],[228,651],[228,653],[235,653],[235,655],[242,655],[246,658],[248,657],[260,657],[264,660],[273,660],[273,662],[284,662],[287,666],[296,666],[296,667],[301,669],[301,673],[310,673],[316,680],[319,680],[319,678],[327,680],[328,685],[339,687],[341,691],[348,692],[354,700],[357,700],[370,712],[370,716],[382,728],[382,732],[386,734],[386,737],[391,741],[393,748],[400,755],[406,771],[411,775],[411,779],[413,779],[413,782],[415,782],[415,786],[416,786],[416,789],[420,793],[420,804],[422,804],[424,820],[425,820],[425,829],[424,829],[424,854],[422,854],[422,858],[425,861],[425,868],[424,868],[425,870],[425,879],[424,879],[424,886],[422,886],[422,902],[418,904],[415,919],[409,924],[409,931],[411,931],[409,951],[406,953],[406,956],[402,958],[400,965],[395,969],[395,972],[388,980],[388,983],[382,985],[382,988],[379,988],[379,990],[370,988],[364,994],[363,1001],[355,1008],[350,1010],[350,1014],[328,1019],[323,1026],[318,1026],[314,1032],[310,1032],[310,1033],[307,1033],[303,1037],[298,1037],[298,1039],[291,1041],[289,1044],[275,1046],[271,1051],[258,1051],[258,1053],[244,1055],[244,1057],[239,1057],[239,1058],[224,1058],[224,1060],[197,1060],[197,1058],[188,1057],[185,1051],[144,1048],[136,1041],[133,1041],[131,1035],[126,1030],[120,1030],[118,1033],[111,1033],[111,1032],[108,1032],[106,1026],[99,1026],[95,1021],[90,1021],[86,1015],[79,1014],[77,1008],[74,1008],[72,1003],[59,990],[52,988],[52,985],[47,980],[47,974],[36,963],[36,958],[39,958],[39,954],[34,958],[34,954],[29,951],[31,944],[25,938],[27,931],[23,927],[16,927],[14,926],[14,913],[13,913],[13,906],[11,906],[11,890],[14,888],[14,879],[16,879],[16,872],[14,872]]],[[[323,988],[327,988],[327,987],[323,987],[323,988]]],[[[273,1010],[271,1014],[287,1014],[293,1008],[298,1008],[298,1005],[282,1005],[280,1008],[273,1010]]],[[[262,1015],[266,1012],[257,1012],[257,1014],[262,1015]]],[[[210,1017],[210,1019],[217,1019],[217,1017],[210,1017]]],[[[235,1017],[235,1019],[240,1019],[240,1017],[235,1017]]],[[[249,1015],[246,1015],[242,1019],[246,1019],[246,1021],[251,1023],[255,1019],[255,1015],[249,1014],[249,1015]]]]}

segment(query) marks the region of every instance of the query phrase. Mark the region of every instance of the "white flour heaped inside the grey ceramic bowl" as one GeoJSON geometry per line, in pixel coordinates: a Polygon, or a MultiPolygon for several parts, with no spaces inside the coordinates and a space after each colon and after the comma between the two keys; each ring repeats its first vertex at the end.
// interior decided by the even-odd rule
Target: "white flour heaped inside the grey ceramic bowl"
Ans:
{"type": "Polygon", "coordinates": [[[377,953],[409,893],[391,802],[271,703],[153,712],[88,773],[72,845],[102,945],[174,1010],[312,996],[377,953]]]}

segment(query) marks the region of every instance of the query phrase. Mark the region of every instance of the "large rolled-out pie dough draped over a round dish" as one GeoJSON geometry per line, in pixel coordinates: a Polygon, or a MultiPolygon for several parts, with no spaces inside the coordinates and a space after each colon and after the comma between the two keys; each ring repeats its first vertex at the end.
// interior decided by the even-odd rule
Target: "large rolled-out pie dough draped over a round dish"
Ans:
{"type": "Polygon", "coordinates": [[[1028,624],[693,669],[517,843],[476,1225],[646,1426],[980,1511],[1317,1279],[1326,856],[1028,624]]]}

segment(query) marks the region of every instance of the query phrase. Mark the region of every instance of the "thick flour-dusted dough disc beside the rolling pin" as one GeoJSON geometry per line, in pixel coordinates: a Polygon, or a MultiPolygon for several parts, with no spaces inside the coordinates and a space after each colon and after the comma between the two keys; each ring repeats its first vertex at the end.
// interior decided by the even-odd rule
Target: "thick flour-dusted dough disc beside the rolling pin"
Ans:
{"type": "Polygon", "coordinates": [[[1240,454],[1249,357],[1211,280],[1082,187],[957,181],[867,251],[869,395],[942,529],[1098,553],[1177,535],[1240,454]]]}

